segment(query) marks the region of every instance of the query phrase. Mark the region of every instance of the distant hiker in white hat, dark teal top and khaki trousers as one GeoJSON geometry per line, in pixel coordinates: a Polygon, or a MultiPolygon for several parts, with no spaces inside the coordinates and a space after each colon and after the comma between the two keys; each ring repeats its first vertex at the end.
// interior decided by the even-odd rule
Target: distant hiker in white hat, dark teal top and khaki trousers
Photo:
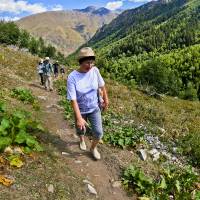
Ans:
{"type": "Polygon", "coordinates": [[[45,89],[53,91],[53,82],[52,82],[53,69],[52,69],[49,57],[46,57],[44,60],[43,73],[44,73],[44,80],[45,80],[45,89]]]}

